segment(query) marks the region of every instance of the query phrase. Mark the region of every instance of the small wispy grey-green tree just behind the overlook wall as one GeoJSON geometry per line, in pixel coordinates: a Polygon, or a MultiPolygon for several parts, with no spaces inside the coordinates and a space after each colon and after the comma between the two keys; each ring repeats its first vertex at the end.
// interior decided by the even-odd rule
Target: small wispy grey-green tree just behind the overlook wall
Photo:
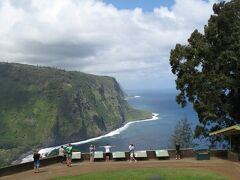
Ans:
{"type": "Polygon", "coordinates": [[[180,144],[183,148],[190,148],[193,145],[192,140],[193,133],[190,123],[187,118],[181,119],[177,122],[172,135],[173,146],[180,144]]]}

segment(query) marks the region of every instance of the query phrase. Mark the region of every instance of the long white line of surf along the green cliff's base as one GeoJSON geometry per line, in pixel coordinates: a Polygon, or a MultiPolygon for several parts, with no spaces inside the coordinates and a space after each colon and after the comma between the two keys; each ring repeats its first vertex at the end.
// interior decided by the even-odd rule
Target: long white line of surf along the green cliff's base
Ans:
{"type": "MultiPolygon", "coordinates": [[[[105,135],[102,135],[102,136],[98,136],[98,137],[95,137],[95,138],[91,138],[91,139],[87,139],[87,140],[83,140],[83,141],[79,141],[79,142],[74,142],[74,143],[71,143],[72,145],[80,145],[80,144],[85,144],[85,143],[89,143],[89,142],[92,142],[92,141],[96,141],[96,140],[99,140],[99,139],[102,139],[104,137],[111,137],[111,136],[115,136],[117,134],[120,134],[121,132],[123,132],[124,130],[126,130],[131,124],[135,124],[135,123],[141,123],[141,122],[146,122],[146,121],[154,121],[154,120],[157,120],[159,119],[158,117],[159,114],[157,113],[152,113],[152,118],[150,119],[144,119],[144,120],[137,120],[137,121],[131,121],[131,122],[128,122],[126,123],[124,126],[114,130],[114,131],[111,131],[105,135]]],[[[41,149],[39,151],[39,153],[41,154],[42,158],[45,158],[50,152],[52,152],[54,149],[59,149],[61,146],[66,146],[67,144],[63,144],[63,145],[60,145],[60,146],[54,146],[54,147],[49,147],[49,148],[44,148],[44,149],[41,149]]],[[[27,157],[23,158],[21,163],[25,163],[25,162],[30,162],[30,161],[33,161],[33,155],[28,155],[27,157]]]]}

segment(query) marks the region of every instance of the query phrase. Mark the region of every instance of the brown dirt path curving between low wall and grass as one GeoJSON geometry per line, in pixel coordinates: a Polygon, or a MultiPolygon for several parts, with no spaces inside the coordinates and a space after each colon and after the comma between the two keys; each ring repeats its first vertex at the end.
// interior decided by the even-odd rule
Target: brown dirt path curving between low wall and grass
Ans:
{"type": "Polygon", "coordinates": [[[203,169],[216,172],[228,179],[240,179],[240,163],[235,163],[221,159],[211,159],[210,161],[196,161],[192,158],[182,160],[149,160],[139,161],[137,163],[121,162],[81,162],[74,163],[72,167],[67,167],[62,164],[54,164],[41,168],[40,173],[35,174],[33,170],[16,173],[9,176],[0,177],[0,179],[8,180],[43,180],[59,176],[78,175],[87,172],[101,172],[111,171],[115,169],[129,169],[131,168],[189,168],[189,169],[203,169]]]}

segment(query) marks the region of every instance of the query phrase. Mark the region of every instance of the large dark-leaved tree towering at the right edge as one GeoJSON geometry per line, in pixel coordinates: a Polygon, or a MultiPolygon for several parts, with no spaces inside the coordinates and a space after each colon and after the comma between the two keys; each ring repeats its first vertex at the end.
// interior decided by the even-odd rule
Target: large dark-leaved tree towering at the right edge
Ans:
{"type": "Polygon", "coordinates": [[[240,122],[240,1],[214,4],[213,11],[204,33],[195,30],[170,55],[176,101],[193,103],[197,135],[207,135],[209,123],[213,131],[240,122]]]}

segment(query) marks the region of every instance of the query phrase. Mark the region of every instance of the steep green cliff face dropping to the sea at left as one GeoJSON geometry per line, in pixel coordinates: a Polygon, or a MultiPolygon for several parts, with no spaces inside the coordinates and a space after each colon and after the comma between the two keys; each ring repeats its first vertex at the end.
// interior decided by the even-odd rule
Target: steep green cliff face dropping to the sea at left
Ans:
{"type": "Polygon", "coordinates": [[[114,78],[0,63],[1,165],[35,147],[98,136],[147,117],[127,104],[114,78]]]}

